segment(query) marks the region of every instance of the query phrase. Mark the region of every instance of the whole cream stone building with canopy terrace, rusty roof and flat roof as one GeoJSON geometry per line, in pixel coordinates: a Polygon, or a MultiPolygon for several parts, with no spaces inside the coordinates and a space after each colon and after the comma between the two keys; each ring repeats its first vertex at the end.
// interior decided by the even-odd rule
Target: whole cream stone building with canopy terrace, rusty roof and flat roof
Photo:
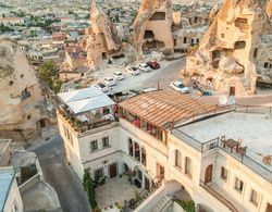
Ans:
{"type": "Polygon", "coordinates": [[[66,159],[81,179],[133,171],[141,191],[125,210],[175,211],[171,202],[186,196],[197,212],[272,211],[269,108],[234,111],[170,90],[118,105],[96,88],[59,98],[66,159]]]}

